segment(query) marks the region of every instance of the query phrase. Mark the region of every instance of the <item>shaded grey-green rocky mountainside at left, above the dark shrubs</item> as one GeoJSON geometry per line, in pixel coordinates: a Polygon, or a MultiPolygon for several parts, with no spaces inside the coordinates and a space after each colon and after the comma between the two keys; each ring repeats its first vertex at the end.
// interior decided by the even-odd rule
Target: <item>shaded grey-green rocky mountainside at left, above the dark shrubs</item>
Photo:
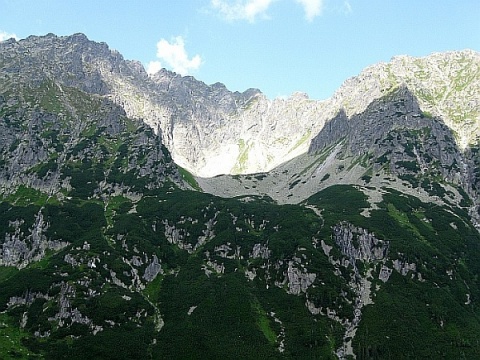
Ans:
{"type": "Polygon", "coordinates": [[[182,182],[161,138],[110,98],[101,71],[132,76],[137,68],[105,44],[83,35],[2,42],[0,64],[4,193],[20,185],[68,191],[84,171],[92,182],[77,190],[86,196],[132,191],[134,176],[143,186],[182,182]]]}

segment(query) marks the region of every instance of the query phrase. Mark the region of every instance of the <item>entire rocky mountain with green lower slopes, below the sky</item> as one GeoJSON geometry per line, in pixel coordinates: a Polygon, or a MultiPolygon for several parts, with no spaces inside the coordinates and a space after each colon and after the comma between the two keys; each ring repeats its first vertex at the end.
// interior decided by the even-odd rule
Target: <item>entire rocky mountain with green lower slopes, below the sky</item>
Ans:
{"type": "Polygon", "coordinates": [[[0,358],[478,357],[479,69],[268,100],[1,42],[0,358]]]}

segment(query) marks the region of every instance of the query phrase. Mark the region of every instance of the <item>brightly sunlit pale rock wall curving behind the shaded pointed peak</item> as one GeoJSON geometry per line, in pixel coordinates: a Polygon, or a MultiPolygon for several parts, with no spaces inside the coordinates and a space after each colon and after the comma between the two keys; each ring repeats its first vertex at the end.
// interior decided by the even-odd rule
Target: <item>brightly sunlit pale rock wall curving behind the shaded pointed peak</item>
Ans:
{"type": "MultiPolygon", "coordinates": [[[[314,144],[310,141],[340,110],[346,117],[352,117],[363,113],[376,100],[388,99],[385,96],[391,93],[399,96],[398,89],[403,89],[412,100],[407,99],[406,103],[418,107],[406,110],[441,118],[464,149],[477,136],[479,64],[479,54],[469,50],[424,58],[402,56],[365,69],[325,101],[310,100],[301,93],[288,99],[269,100],[261,93],[251,96],[245,92],[250,99],[246,99],[245,106],[236,103],[235,108],[225,107],[232,104],[224,102],[228,97],[216,97],[220,107],[228,111],[207,115],[215,110],[204,103],[202,124],[198,124],[196,111],[183,117],[182,129],[176,124],[178,133],[188,136],[189,142],[200,150],[189,152],[175,140],[170,148],[182,166],[201,176],[268,171],[311,149],[314,144]]],[[[188,102],[185,106],[189,106],[188,102]]],[[[381,123],[381,119],[377,121],[381,123]]],[[[175,130],[172,137],[179,138],[175,130]]]]}

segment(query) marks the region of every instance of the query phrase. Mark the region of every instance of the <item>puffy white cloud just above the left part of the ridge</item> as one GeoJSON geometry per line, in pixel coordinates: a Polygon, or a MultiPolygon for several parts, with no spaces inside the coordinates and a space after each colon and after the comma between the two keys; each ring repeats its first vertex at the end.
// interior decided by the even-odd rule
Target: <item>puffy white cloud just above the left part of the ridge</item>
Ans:
{"type": "MultiPolygon", "coordinates": [[[[188,58],[185,50],[185,41],[181,36],[177,36],[168,42],[161,39],[157,43],[157,58],[165,62],[173,71],[180,75],[188,75],[190,71],[197,70],[202,64],[200,55],[188,58]]],[[[160,61],[150,61],[147,65],[147,73],[154,74],[162,68],[160,61]]]]}

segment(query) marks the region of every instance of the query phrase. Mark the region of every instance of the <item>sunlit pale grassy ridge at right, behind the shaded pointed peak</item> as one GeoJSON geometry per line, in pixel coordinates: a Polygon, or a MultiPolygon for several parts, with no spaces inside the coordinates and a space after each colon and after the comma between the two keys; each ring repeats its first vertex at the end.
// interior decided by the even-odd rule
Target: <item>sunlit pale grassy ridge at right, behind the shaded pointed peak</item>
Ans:
{"type": "Polygon", "coordinates": [[[346,80],[333,99],[351,116],[392,89],[407,87],[422,111],[442,118],[458,133],[457,142],[464,149],[478,136],[479,74],[480,53],[469,49],[421,58],[396,56],[389,63],[369,66],[346,80]]]}

